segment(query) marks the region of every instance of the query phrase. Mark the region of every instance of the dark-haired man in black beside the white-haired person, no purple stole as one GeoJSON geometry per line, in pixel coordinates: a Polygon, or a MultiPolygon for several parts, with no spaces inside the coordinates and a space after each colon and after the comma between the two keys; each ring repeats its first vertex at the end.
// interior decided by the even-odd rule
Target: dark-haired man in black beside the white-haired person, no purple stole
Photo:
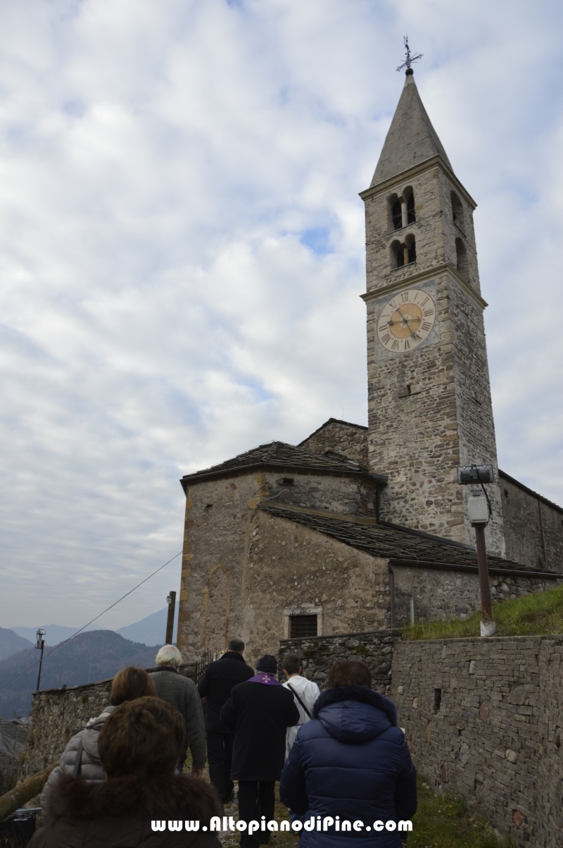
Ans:
{"type": "Polygon", "coordinates": [[[207,734],[207,762],[209,778],[223,803],[233,800],[235,784],[230,778],[233,756],[233,734],[221,722],[221,707],[237,683],[244,683],[254,675],[246,665],[242,652],[245,643],[231,639],[229,647],[215,662],[210,662],[197,684],[201,698],[206,698],[205,729],[207,734]]]}

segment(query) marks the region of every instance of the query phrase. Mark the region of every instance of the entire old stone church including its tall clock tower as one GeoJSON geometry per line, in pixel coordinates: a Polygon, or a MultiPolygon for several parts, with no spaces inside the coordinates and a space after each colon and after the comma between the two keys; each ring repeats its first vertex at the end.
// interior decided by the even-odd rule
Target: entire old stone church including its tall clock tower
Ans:
{"type": "Polygon", "coordinates": [[[279,639],[466,616],[480,604],[471,487],[487,486],[497,600],[563,577],[563,509],[498,469],[475,202],[455,176],[412,70],[366,205],[368,426],[333,418],[301,444],[262,444],[182,478],[178,646],[186,661],[240,637],[279,639]]]}

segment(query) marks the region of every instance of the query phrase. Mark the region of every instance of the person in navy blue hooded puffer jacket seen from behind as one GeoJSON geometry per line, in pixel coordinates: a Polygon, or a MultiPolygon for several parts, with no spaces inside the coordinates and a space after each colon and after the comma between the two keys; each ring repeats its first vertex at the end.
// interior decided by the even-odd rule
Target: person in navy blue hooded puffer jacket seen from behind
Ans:
{"type": "Polygon", "coordinates": [[[314,830],[301,831],[300,848],[400,848],[406,833],[393,823],[416,812],[417,783],[395,704],[369,688],[372,675],[363,662],[335,663],[327,683],[279,782],[281,801],[305,825],[315,819],[314,830]],[[318,831],[318,816],[334,824],[318,831]]]}

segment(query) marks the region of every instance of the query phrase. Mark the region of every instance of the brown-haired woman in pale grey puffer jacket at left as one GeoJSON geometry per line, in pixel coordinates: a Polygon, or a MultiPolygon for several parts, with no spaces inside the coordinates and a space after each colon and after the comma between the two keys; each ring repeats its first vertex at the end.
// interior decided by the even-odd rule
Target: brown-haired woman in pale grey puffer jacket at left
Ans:
{"type": "Polygon", "coordinates": [[[61,756],[60,764],[49,775],[41,794],[43,814],[48,815],[49,795],[63,774],[72,774],[85,780],[105,780],[102,762],[97,753],[97,738],[103,727],[103,722],[119,704],[126,700],[135,700],[145,695],[156,695],[152,678],[143,668],[128,666],[122,668],[113,678],[112,691],[109,695],[109,705],[97,718],[91,718],[86,728],[80,730],[70,739],[61,756]]]}

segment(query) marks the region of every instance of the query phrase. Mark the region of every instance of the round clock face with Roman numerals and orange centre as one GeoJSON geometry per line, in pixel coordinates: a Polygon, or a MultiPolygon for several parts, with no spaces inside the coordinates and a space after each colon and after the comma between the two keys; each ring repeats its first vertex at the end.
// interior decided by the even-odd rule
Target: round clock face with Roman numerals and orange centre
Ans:
{"type": "Polygon", "coordinates": [[[384,305],[378,318],[378,339],[389,353],[404,354],[428,338],[436,323],[436,304],[428,292],[407,288],[384,305]]]}

